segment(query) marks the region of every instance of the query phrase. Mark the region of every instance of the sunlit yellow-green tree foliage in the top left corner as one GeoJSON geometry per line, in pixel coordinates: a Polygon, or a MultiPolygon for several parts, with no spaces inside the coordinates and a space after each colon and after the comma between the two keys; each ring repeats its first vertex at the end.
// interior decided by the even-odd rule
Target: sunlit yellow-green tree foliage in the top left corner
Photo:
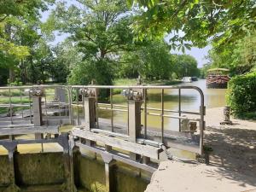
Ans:
{"type": "MultiPolygon", "coordinates": [[[[39,20],[40,11],[48,9],[54,0],[3,0],[0,2],[0,65],[9,68],[9,80],[15,80],[15,69],[27,55],[20,34],[27,25],[39,20]]],[[[37,29],[34,29],[35,31],[37,29]]]]}

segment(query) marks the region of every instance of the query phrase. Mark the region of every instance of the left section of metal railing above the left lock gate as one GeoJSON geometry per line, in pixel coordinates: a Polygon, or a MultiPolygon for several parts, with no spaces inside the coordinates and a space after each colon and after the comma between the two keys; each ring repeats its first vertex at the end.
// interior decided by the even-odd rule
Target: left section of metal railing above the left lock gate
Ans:
{"type": "Polygon", "coordinates": [[[38,88],[44,91],[44,96],[42,96],[42,108],[44,109],[43,117],[44,117],[44,120],[46,121],[46,125],[48,125],[48,122],[50,119],[49,113],[51,109],[54,109],[54,108],[58,109],[57,111],[57,113],[59,113],[58,116],[65,116],[68,119],[70,119],[69,118],[70,91],[69,91],[69,88],[64,85],[32,85],[32,86],[0,87],[0,115],[1,115],[1,112],[2,112],[2,115],[3,113],[6,114],[5,117],[2,119],[5,122],[9,121],[10,125],[15,124],[15,122],[20,119],[27,119],[32,124],[33,123],[32,92],[34,90],[37,90],[38,88]],[[65,99],[64,102],[61,101],[58,95],[56,95],[55,89],[65,90],[65,96],[67,97],[67,99],[65,99]],[[6,98],[8,98],[9,102],[7,102],[6,98]],[[61,108],[64,108],[64,114],[61,114],[61,108]],[[17,117],[15,112],[19,112],[20,115],[17,117]]]}

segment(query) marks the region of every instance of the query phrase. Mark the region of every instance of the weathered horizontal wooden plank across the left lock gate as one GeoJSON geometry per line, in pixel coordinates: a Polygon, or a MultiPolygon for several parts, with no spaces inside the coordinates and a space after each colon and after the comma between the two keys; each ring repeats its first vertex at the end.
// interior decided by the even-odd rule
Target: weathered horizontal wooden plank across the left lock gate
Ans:
{"type": "Polygon", "coordinates": [[[16,128],[2,128],[0,129],[0,136],[8,135],[26,135],[33,133],[59,133],[59,126],[34,126],[34,127],[16,127],[16,128]]]}

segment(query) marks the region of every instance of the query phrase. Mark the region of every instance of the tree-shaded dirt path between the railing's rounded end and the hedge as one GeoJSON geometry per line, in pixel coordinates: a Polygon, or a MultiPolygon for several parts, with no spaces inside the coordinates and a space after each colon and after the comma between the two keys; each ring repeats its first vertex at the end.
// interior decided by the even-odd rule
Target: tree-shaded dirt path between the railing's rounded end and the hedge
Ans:
{"type": "Polygon", "coordinates": [[[213,149],[210,163],[256,180],[256,122],[231,119],[236,125],[219,125],[222,111],[207,110],[205,144],[213,149]]]}

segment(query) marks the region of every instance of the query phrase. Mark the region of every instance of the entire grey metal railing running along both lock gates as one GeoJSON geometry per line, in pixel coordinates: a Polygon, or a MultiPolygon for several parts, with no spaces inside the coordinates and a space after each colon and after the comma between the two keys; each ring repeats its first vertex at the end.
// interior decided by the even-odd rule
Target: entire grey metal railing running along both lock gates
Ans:
{"type": "MultiPolygon", "coordinates": [[[[69,109],[69,120],[70,123],[73,124],[73,116],[75,114],[75,108],[76,107],[76,113],[77,113],[77,117],[76,117],[76,121],[79,124],[79,108],[83,108],[83,116],[84,116],[84,97],[81,96],[82,100],[80,100],[79,96],[79,89],[96,89],[96,90],[102,90],[102,89],[109,89],[110,90],[110,96],[109,96],[109,102],[108,103],[101,103],[98,101],[98,96],[96,94],[96,127],[99,128],[99,109],[101,110],[108,110],[111,111],[111,127],[112,127],[112,131],[113,131],[113,112],[117,111],[117,112],[122,112],[122,113],[129,113],[129,103],[127,103],[127,105],[119,105],[119,104],[114,104],[113,103],[113,89],[124,89],[124,90],[142,90],[143,91],[143,98],[142,98],[142,102],[144,102],[143,106],[141,106],[141,109],[144,111],[144,125],[143,125],[143,135],[144,135],[144,139],[147,139],[147,129],[148,129],[148,115],[154,115],[154,116],[160,116],[161,118],[161,140],[162,143],[164,143],[164,118],[172,118],[172,119],[178,119],[179,120],[179,131],[181,131],[181,120],[183,119],[190,119],[193,121],[199,121],[199,125],[200,125],[200,148],[201,148],[201,154],[202,154],[202,145],[203,145],[203,130],[205,128],[205,123],[204,123],[204,115],[205,115],[205,106],[204,106],[204,94],[202,92],[202,90],[199,87],[196,86],[192,86],[192,85],[136,85],[136,86],[130,86],[130,85],[95,85],[95,84],[90,84],[90,85],[30,85],[30,86],[9,86],[9,87],[0,87],[0,90],[9,90],[9,103],[6,104],[0,104],[0,108],[7,108],[9,107],[10,111],[12,110],[12,108],[15,107],[32,107],[32,101],[31,98],[29,98],[29,103],[27,102],[23,102],[22,101],[22,96],[24,96],[21,93],[21,90],[25,90],[25,89],[37,89],[38,87],[43,88],[43,89],[55,89],[55,88],[62,88],[65,89],[67,91],[67,102],[47,102],[46,96],[45,96],[45,101],[44,101],[44,105],[45,108],[47,108],[50,105],[53,105],[55,107],[60,105],[65,105],[68,106],[69,109]],[[148,102],[147,102],[147,96],[148,96],[148,90],[161,90],[160,91],[160,98],[161,98],[161,107],[160,108],[150,108],[148,107],[148,102]],[[12,90],[20,90],[20,103],[13,103],[12,102],[12,90]],[[165,104],[165,90],[178,90],[178,109],[177,110],[171,110],[171,109],[166,109],[164,108],[164,104],[165,104]],[[193,112],[193,111],[184,111],[181,109],[181,90],[196,90],[199,95],[200,95],[200,108],[199,108],[199,112],[193,112]],[[75,94],[75,101],[73,101],[73,96],[75,94]],[[159,113],[153,113],[153,112],[159,112],[159,113]],[[178,115],[169,115],[166,113],[178,113],[178,115]],[[183,117],[181,116],[183,113],[188,113],[188,114],[194,114],[194,115],[199,115],[200,118],[196,119],[196,118],[187,118],[187,117],[183,117]]],[[[53,95],[53,94],[51,94],[53,95]]],[[[22,111],[23,113],[23,111],[22,111]]],[[[47,113],[47,110],[46,110],[47,113]]],[[[32,115],[30,115],[32,118],[32,115]]],[[[48,115],[46,115],[48,117],[48,115]]],[[[46,117],[46,118],[47,118],[46,117]]],[[[12,113],[11,113],[11,121],[13,121],[12,119],[12,113]]],[[[129,118],[129,115],[128,115],[129,118]]],[[[129,119],[128,119],[128,124],[129,124],[129,119]]],[[[129,127],[129,125],[128,125],[129,127]]],[[[128,132],[129,135],[129,132],[128,132]]]]}

